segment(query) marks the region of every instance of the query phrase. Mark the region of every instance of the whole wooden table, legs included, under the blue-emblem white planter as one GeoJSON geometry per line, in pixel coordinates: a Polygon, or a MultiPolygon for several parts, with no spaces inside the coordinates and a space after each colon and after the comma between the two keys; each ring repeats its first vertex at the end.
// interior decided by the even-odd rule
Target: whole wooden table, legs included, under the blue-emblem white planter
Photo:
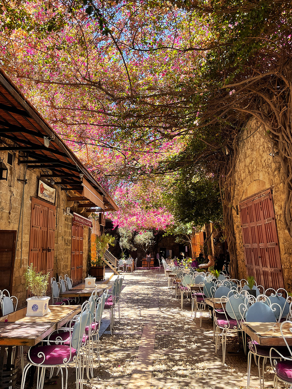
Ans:
{"type": "MultiPolygon", "coordinates": [[[[50,305],[45,316],[25,316],[27,308],[0,317],[0,384],[14,387],[18,346],[35,346],[81,312],[81,305],[50,305]],[[16,346],[15,353],[12,348],[16,346]],[[5,348],[7,362],[4,368],[5,348]],[[14,355],[14,357],[13,357],[14,355]]],[[[33,375],[32,375],[33,377],[33,375]]]]}

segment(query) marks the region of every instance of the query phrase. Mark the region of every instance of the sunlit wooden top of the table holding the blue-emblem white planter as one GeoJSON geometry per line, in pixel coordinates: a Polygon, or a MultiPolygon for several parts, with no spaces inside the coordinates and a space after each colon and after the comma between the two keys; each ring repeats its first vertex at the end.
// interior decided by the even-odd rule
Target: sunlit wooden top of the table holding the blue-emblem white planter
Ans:
{"type": "Polygon", "coordinates": [[[25,316],[25,307],[0,317],[0,345],[35,345],[79,314],[81,305],[49,305],[49,310],[45,316],[25,316]]]}

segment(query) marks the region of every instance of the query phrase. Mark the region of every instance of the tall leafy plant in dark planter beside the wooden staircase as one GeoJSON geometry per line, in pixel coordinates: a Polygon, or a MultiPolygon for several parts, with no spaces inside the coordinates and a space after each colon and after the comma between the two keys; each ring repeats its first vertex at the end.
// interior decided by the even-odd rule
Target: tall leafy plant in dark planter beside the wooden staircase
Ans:
{"type": "Polygon", "coordinates": [[[91,258],[90,275],[96,280],[102,281],[106,275],[106,263],[104,262],[104,253],[107,246],[114,246],[114,237],[109,234],[103,234],[95,240],[96,258],[91,258]]]}

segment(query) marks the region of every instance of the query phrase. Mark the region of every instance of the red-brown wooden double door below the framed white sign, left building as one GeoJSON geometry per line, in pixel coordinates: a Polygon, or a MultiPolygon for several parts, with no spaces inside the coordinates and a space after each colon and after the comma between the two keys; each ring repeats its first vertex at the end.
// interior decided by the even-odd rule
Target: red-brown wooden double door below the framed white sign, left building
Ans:
{"type": "Polygon", "coordinates": [[[50,273],[48,291],[51,289],[54,268],[55,225],[55,205],[33,197],[28,264],[33,263],[38,272],[50,273]]]}

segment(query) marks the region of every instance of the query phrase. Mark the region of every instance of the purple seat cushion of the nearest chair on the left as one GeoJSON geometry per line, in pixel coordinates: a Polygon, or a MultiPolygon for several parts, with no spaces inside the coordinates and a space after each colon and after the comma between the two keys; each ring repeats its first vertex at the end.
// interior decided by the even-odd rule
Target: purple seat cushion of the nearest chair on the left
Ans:
{"type": "Polygon", "coordinates": [[[72,359],[76,356],[76,350],[73,348],[70,349],[70,347],[66,345],[41,346],[36,347],[35,349],[30,349],[29,356],[30,359],[37,364],[41,363],[44,365],[58,365],[63,364],[64,359],[66,359],[68,362],[72,361],[72,359]],[[44,356],[39,357],[38,355],[40,352],[43,353],[44,356]]]}

